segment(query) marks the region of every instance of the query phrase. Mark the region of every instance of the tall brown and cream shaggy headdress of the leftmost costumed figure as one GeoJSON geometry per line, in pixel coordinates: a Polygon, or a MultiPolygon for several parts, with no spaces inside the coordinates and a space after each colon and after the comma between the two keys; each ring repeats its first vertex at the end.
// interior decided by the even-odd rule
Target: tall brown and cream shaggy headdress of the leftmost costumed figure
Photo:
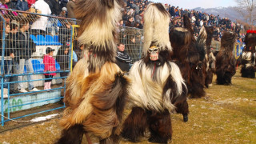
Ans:
{"type": "Polygon", "coordinates": [[[121,19],[121,0],[78,0],[74,13],[81,19],[78,41],[87,46],[93,60],[89,70],[105,62],[115,62],[116,26],[121,19]]]}

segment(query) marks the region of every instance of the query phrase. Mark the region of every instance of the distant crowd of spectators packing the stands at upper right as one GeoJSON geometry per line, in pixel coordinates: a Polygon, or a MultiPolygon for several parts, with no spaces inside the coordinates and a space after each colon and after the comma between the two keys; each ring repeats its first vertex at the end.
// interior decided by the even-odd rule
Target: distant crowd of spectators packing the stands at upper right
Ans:
{"type": "MultiPolygon", "coordinates": [[[[122,10],[122,21],[119,26],[129,26],[138,29],[143,28],[143,14],[146,6],[150,3],[147,0],[126,0],[125,8],[122,10]]],[[[194,28],[194,35],[197,37],[202,26],[214,26],[214,38],[220,41],[222,32],[234,30],[238,34],[238,39],[244,38],[241,33],[244,26],[238,22],[232,22],[229,18],[220,18],[219,15],[206,14],[202,11],[182,9],[178,6],[165,4],[166,10],[170,13],[170,28],[182,26],[183,15],[186,14],[191,19],[194,28]]]]}

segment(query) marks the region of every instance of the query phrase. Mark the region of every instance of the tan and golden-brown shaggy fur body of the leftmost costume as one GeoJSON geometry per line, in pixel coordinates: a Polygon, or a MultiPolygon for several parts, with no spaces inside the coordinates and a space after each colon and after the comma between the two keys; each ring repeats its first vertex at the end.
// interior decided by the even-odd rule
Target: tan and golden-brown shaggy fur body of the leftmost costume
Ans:
{"type": "MultiPolygon", "coordinates": [[[[106,62],[102,70],[86,78],[82,74],[77,75],[77,85],[70,85],[68,81],[64,99],[67,107],[60,121],[61,126],[69,130],[76,124],[82,124],[85,131],[101,139],[110,137],[113,127],[121,123],[129,82],[120,71],[116,64],[106,62]],[[78,90],[79,93],[71,95],[74,94],[71,90],[78,90]]],[[[120,127],[116,133],[120,133],[120,127]]]]}

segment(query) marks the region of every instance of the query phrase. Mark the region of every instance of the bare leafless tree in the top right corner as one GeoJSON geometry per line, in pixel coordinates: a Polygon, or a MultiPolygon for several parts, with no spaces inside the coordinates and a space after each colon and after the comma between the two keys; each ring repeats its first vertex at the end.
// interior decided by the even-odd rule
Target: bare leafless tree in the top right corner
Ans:
{"type": "Polygon", "coordinates": [[[252,26],[256,20],[256,0],[235,0],[235,2],[238,4],[235,10],[242,14],[246,22],[252,26]]]}

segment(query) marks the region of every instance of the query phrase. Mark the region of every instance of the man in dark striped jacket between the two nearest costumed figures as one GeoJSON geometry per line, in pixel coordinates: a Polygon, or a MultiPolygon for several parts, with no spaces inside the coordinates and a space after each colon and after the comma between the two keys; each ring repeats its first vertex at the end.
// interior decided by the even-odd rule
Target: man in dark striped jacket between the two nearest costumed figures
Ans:
{"type": "Polygon", "coordinates": [[[130,62],[131,58],[125,51],[125,45],[123,43],[118,44],[118,51],[117,51],[117,64],[122,71],[128,72],[130,69],[130,62]]]}

